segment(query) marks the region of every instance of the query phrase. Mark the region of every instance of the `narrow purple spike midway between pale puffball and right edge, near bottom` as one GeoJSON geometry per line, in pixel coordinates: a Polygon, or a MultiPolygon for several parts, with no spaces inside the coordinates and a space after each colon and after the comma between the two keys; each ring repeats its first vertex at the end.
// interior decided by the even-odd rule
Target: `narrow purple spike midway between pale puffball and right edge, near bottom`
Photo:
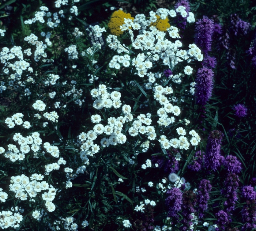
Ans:
{"type": "Polygon", "coordinates": [[[208,208],[208,200],[210,198],[209,192],[211,192],[211,184],[207,179],[202,179],[198,187],[198,212],[199,218],[204,216],[203,212],[208,208]]]}

